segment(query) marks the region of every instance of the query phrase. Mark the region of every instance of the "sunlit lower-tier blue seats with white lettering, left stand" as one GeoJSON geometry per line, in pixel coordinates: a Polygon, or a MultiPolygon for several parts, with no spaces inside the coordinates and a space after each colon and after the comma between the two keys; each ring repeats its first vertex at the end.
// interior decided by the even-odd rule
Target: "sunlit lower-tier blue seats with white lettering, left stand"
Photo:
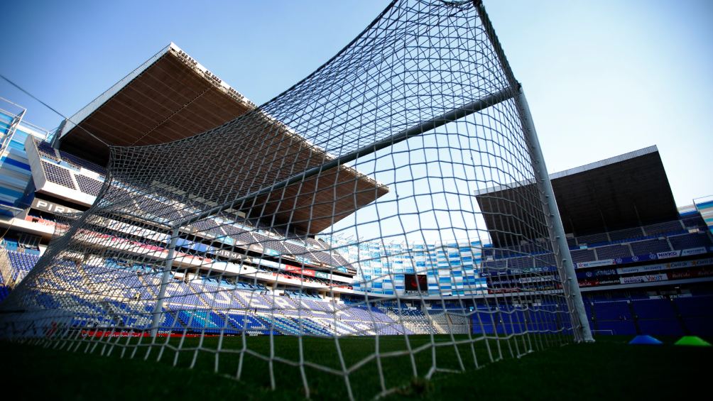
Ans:
{"type": "MultiPolygon", "coordinates": [[[[16,251],[7,252],[14,268],[14,276],[26,274],[37,260],[36,255],[16,251]]],[[[87,294],[88,298],[73,295],[71,301],[66,301],[63,297],[58,298],[61,302],[69,302],[63,305],[64,307],[83,311],[82,319],[73,321],[73,324],[79,326],[92,321],[98,328],[116,328],[128,322],[126,319],[132,319],[134,323],[140,320],[142,313],[138,311],[151,311],[151,303],[141,300],[153,298],[153,294],[149,291],[155,288],[157,276],[145,274],[142,269],[135,269],[133,266],[126,268],[116,264],[115,261],[107,261],[106,266],[67,264],[66,267],[68,269],[54,269],[48,280],[53,282],[51,287],[57,291],[80,291],[87,294]],[[113,299],[93,300],[88,294],[94,293],[96,286],[116,288],[116,291],[111,291],[113,299]],[[142,303],[143,308],[140,307],[142,303]],[[101,318],[101,316],[110,318],[101,318]],[[117,319],[117,316],[121,318],[117,319]]],[[[318,296],[294,299],[284,297],[273,302],[272,298],[263,295],[264,290],[244,289],[249,287],[247,284],[241,287],[227,288],[210,286],[205,282],[186,284],[183,281],[173,281],[167,289],[167,313],[161,327],[186,333],[228,334],[237,334],[241,330],[265,334],[270,333],[268,327],[273,325],[276,329],[274,333],[287,335],[298,333],[332,335],[335,332],[340,335],[373,335],[376,332],[414,333],[415,331],[406,326],[406,323],[397,323],[397,321],[408,321],[412,328],[420,328],[419,332],[432,331],[420,311],[404,312],[395,320],[379,308],[362,306],[335,308],[334,304],[318,296]],[[229,313],[226,318],[221,310],[243,311],[244,314],[229,313]],[[339,316],[338,321],[333,321],[335,310],[339,316]]],[[[48,308],[57,302],[51,293],[39,292],[36,294],[36,299],[39,305],[48,308]]]]}

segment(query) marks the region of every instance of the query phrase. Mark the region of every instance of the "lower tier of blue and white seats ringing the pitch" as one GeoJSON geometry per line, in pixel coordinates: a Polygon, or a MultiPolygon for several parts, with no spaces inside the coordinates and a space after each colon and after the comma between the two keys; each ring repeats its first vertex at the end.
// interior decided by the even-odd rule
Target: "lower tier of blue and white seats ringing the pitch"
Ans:
{"type": "MultiPolygon", "coordinates": [[[[37,261],[34,254],[20,251],[6,251],[11,261],[14,279],[26,274],[37,261]]],[[[138,269],[127,269],[106,261],[106,266],[82,266],[78,271],[76,266],[68,264],[67,269],[53,272],[53,288],[62,291],[77,291],[91,293],[94,286],[111,285],[115,299],[105,299],[103,303],[88,301],[81,296],[73,296],[75,304],[72,308],[83,308],[85,321],[96,320],[98,327],[114,327],[126,319],[133,322],[140,318],[142,308],[130,307],[129,303],[139,302],[142,298],[152,298],[152,288],[155,288],[157,276],[145,274],[138,269]],[[74,269],[72,269],[74,268],[74,269]],[[98,274],[101,271],[101,274],[98,274]],[[86,275],[84,273],[87,273],[86,275]],[[88,279],[84,278],[87,277],[88,279]],[[98,278],[103,277],[103,281],[98,278]],[[145,284],[140,284],[145,283],[145,284]],[[138,294],[138,295],[137,295],[138,294]],[[123,310],[123,315],[106,313],[107,308],[123,310]],[[101,311],[101,313],[100,313],[101,311]],[[120,319],[107,321],[98,316],[119,316],[120,319]]],[[[5,277],[2,277],[5,279],[5,277]]],[[[6,287],[2,287],[6,295],[6,287]]],[[[264,287],[262,287],[264,288],[264,287]]],[[[394,308],[391,303],[384,303],[381,308],[364,308],[349,306],[342,303],[339,310],[339,321],[330,322],[334,304],[324,301],[319,296],[309,296],[295,291],[286,291],[279,304],[272,298],[263,296],[264,289],[258,291],[248,283],[238,283],[232,286],[215,286],[206,281],[195,281],[188,284],[183,281],[170,283],[167,291],[168,302],[163,328],[181,330],[186,333],[240,333],[247,330],[252,333],[270,333],[269,327],[275,327],[274,333],[284,335],[370,335],[372,333],[463,333],[463,330],[473,330],[474,333],[507,334],[520,333],[525,328],[540,330],[542,327],[530,324],[530,319],[542,323],[546,330],[558,330],[557,324],[551,318],[543,318],[546,308],[529,308],[523,310],[502,311],[499,309],[477,306],[478,312],[473,315],[471,327],[468,319],[463,318],[462,303],[434,304],[431,312],[426,315],[415,309],[394,308]],[[251,310],[248,310],[250,306],[251,310]],[[215,309],[211,309],[215,308],[215,309]],[[222,308],[243,310],[244,316],[225,315],[222,308]],[[460,311],[459,313],[443,313],[445,310],[460,311]],[[440,310],[441,312],[438,312],[440,310]],[[528,318],[530,313],[530,318],[528,318]],[[458,320],[460,319],[460,320],[458,320]],[[479,320],[478,320],[479,319],[479,320]],[[227,322],[227,323],[226,323],[227,322]]],[[[690,296],[675,298],[640,298],[628,296],[625,299],[603,301],[594,299],[589,302],[588,313],[592,319],[594,330],[600,333],[635,334],[650,333],[653,335],[679,335],[683,333],[711,333],[713,325],[713,296],[690,296]],[[678,322],[681,323],[678,323],[678,322]]],[[[37,300],[41,305],[51,306],[54,302],[49,293],[39,293],[37,300]]],[[[358,304],[360,298],[353,303],[358,304]]],[[[345,298],[349,302],[349,298],[345,298]]],[[[144,310],[150,310],[145,304],[144,310]]]]}

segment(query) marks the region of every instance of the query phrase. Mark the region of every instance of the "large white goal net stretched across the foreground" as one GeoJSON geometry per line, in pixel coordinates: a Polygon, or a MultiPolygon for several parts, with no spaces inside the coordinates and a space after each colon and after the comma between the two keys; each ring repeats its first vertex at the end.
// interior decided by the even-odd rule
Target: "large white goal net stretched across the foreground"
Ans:
{"type": "Polygon", "coordinates": [[[0,335],[350,399],[586,339],[538,146],[482,4],[394,1],[245,115],[111,147],[0,335]]]}

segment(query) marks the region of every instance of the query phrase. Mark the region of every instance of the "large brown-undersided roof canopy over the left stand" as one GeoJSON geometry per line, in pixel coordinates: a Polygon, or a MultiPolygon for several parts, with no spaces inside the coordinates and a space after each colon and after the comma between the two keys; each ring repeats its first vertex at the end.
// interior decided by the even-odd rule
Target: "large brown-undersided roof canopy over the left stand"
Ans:
{"type": "MultiPolygon", "coordinates": [[[[242,167],[236,170],[248,176],[252,173],[248,166],[256,165],[258,158],[266,167],[264,156],[269,153],[272,162],[267,162],[270,166],[262,171],[275,172],[276,181],[286,178],[279,169],[279,161],[284,157],[296,158],[295,165],[304,169],[332,159],[324,150],[304,140],[299,132],[293,132],[262,110],[256,110],[250,100],[174,43],[65,120],[53,146],[98,165],[108,165],[109,146],[160,145],[183,140],[225,125],[241,115],[245,116],[243,120],[246,122],[264,120],[267,128],[262,135],[272,135],[270,140],[266,137],[262,143],[245,141],[253,144],[255,152],[252,155],[244,148],[223,148],[205,152],[203,158],[205,155],[213,155],[212,159],[240,158],[242,167]],[[253,113],[247,115],[251,111],[253,113]]],[[[242,121],[235,122],[240,123],[242,121]]],[[[217,183],[214,181],[207,179],[202,185],[210,184],[215,188],[217,183]]],[[[227,189],[222,193],[244,192],[237,189],[242,183],[233,185],[235,191],[227,189]]],[[[270,187],[270,183],[265,185],[270,187]]],[[[220,187],[225,187],[225,181],[220,182],[220,187]]],[[[270,219],[266,224],[284,224],[300,234],[317,234],[387,192],[388,187],[342,165],[320,172],[303,183],[277,190],[275,194],[265,194],[252,202],[252,206],[240,210],[248,217],[270,219]]],[[[226,199],[207,200],[222,203],[226,199]]]]}

